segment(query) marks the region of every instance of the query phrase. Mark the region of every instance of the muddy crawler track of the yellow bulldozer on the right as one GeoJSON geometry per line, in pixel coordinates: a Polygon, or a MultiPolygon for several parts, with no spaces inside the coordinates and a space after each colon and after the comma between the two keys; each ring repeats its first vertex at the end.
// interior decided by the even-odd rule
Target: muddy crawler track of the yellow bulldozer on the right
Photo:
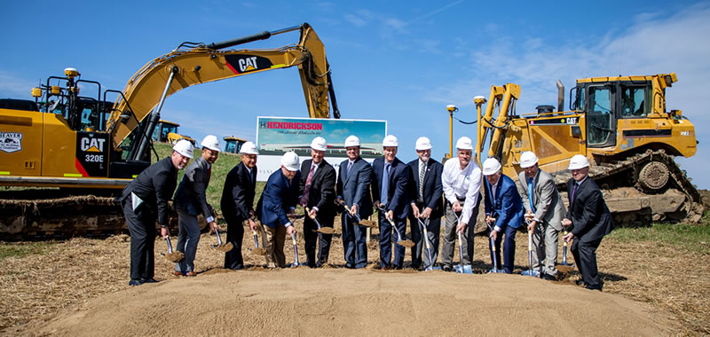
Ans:
{"type": "MultiPolygon", "coordinates": [[[[698,223],[702,217],[704,208],[698,189],[664,150],[647,150],[620,160],[598,156],[596,161],[589,176],[604,192],[604,200],[618,224],[698,223]]],[[[553,176],[557,189],[566,191],[572,176],[568,172],[553,176]]]]}

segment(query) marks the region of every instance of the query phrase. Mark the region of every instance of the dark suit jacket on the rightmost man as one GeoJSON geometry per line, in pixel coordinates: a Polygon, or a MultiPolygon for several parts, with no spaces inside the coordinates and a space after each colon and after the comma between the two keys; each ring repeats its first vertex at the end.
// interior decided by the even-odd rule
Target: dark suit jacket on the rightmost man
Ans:
{"type": "Polygon", "coordinates": [[[606,207],[602,192],[594,180],[587,177],[577,187],[572,200],[574,184],[574,179],[567,182],[567,196],[570,201],[567,218],[572,221],[572,234],[581,242],[602,239],[614,229],[611,212],[606,207]]]}

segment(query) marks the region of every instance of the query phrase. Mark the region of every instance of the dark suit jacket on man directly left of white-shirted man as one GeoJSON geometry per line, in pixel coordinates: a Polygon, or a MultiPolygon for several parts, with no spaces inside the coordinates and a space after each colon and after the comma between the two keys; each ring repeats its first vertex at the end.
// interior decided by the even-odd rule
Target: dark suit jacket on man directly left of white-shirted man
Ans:
{"type": "MultiPolygon", "coordinates": [[[[406,165],[410,169],[409,179],[409,202],[414,202],[419,199],[419,158],[414,161],[409,161],[406,165]]],[[[444,165],[430,158],[427,161],[427,170],[424,173],[424,207],[431,208],[432,217],[444,216],[444,188],[441,184],[441,173],[444,171],[444,165]]],[[[420,209],[423,211],[423,209],[420,209]]]]}

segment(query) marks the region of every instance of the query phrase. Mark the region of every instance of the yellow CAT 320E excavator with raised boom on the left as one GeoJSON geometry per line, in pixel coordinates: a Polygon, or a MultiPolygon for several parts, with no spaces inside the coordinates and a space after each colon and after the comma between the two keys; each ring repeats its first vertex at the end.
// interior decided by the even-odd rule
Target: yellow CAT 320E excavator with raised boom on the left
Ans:
{"type": "Polygon", "coordinates": [[[221,43],[182,43],[141,67],[121,91],[102,90],[74,68],[51,76],[32,90],[39,111],[0,108],[0,186],[60,189],[1,192],[0,236],[121,231],[124,221],[110,194],[150,165],[151,136],[166,98],[192,85],[287,67],[298,68],[310,117],[329,118],[331,107],[340,117],[325,47],[307,23],[221,43]],[[232,48],[291,31],[300,32],[298,43],[232,48]]]}

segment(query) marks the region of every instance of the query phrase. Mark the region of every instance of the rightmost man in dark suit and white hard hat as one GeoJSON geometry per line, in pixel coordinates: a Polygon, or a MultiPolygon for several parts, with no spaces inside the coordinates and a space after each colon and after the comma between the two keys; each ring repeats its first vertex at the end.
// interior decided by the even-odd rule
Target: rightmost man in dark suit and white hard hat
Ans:
{"type": "Polygon", "coordinates": [[[564,236],[572,242],[572,255],[580,269],[584,286],[588,289],[602,290],[602,279],[596,269],[596,248],[602,243],[604,235],[614,229],[611,212],[606,207],[604,196],[599,191],[589,174],[587,157],[577,154],[570,160],[572,179],[567,182],[567,196],[570,207],[562,220],[565,227],[572,226],[572,231],[564,236]]]}

